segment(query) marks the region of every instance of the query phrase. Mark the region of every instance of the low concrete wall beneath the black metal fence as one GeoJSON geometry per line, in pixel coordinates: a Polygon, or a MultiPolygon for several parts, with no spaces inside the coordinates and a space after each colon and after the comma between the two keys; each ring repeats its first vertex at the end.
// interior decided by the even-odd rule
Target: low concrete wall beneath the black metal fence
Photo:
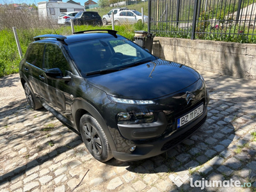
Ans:
{"type": "Polygon", "coordinates": [[[228,76],[256,79],[256,45],[155,37],[159,58],[228,76]]]}

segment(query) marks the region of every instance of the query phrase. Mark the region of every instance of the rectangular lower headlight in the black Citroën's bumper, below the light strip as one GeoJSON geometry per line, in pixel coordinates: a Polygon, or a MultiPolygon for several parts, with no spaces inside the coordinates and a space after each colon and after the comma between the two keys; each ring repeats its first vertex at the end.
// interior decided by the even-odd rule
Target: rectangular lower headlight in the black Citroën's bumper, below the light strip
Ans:
{"type": "Polygon", "coordinates": [[[124,112],[117,114],[118,124],[145,124],[154,122],[154,113],[124,112]]]}

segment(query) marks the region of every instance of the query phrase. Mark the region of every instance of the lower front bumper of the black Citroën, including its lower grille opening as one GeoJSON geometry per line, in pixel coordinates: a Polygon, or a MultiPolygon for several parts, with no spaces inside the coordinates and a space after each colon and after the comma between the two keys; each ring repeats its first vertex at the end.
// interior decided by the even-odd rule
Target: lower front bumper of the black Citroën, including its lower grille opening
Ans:
{"type": "Polygon", "coordinates": [[[191,136],[191,134],[193,134],[202,125],[204,125],[206,118],[207,109],[201,116],[196,118],[195,121],[190,122],[188,125],[186,125],[186,127],[183,127],[182,129],[178,129],[177,131],[172,132],[172,134],[165,136],[165,138],[159,137],[159,139],[154,142],[147,142],[145,144],[140,143],[139,145],[136,145],[136,149],[133,152],[124,153],[112,151],[112,154],[115,159],[120,161],[137,161],[140,159],[157,156],[186,140],[186,138],[191,136]]]}

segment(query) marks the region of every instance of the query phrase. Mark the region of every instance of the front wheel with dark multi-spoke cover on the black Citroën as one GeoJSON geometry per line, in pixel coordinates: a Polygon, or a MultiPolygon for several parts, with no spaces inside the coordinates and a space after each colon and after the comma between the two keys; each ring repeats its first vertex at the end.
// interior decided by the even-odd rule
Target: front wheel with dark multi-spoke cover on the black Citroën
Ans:
{"type": "Polygon", "coordinates": [[[108,139],[93,116],[86,114],[81,117],[80,132],[86,148],[95,159],[106,162],[113,157],[108,139]]]}

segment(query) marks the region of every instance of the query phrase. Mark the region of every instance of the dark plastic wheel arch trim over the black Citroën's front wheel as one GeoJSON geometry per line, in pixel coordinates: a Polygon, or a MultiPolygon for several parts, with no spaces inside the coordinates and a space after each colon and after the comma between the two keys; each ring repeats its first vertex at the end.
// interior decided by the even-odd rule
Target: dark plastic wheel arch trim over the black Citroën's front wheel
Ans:
{"type": "Polygon", "coordinates": [[[72,104],[72,116],[73,116],[74,125],[77,131],[80,132],[80,125],[79,125],[80,119],[86,113],[90,113],[90,115],[92,115],[97,120],[97,122],[99,122],[104,133],[106,134],[106,137],[108,138],[108,142],[111,150],[116,150],[113,137],[102,115],[100,115],[99,111],[94,106],[92,106],[92,104],[81,99],[75,100],[74,103],[72,104]]]}

